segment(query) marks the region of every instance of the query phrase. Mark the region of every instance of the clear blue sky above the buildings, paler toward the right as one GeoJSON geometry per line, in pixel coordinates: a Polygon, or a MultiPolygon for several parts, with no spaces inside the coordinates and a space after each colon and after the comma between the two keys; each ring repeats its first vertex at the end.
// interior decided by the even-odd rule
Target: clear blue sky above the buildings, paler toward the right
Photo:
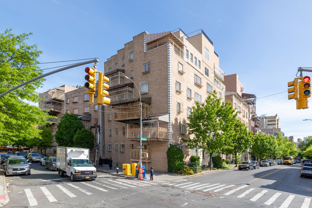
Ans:
{"type": "MultiPolygon", "coordinates": [[[[277,114],[285,136],[293,135],[296,141],[312,135],[312,121],[302,121],[312,119],[312,103],[297,110],[285,91],[298,67],[312,67],[311,7],[311,1],[290,0],[0,1],[0,32],[33,32],[28,43],[43,51],[41,62],[98,57],[97,69],[103,71],[106,59],[143,31],[181,28],[188,34],[202,29],[213,41],[222,70],[237,73],[244,92],[259,98],[258,116],[277,114]],[[276,95],[261,98],[271,94],[276,95]]],[[[65,64],[41,68],[59,65],[65,64]]],[[[84,76],[84,67],[50,75],[38,92],[83,85],[84,76]]]]}

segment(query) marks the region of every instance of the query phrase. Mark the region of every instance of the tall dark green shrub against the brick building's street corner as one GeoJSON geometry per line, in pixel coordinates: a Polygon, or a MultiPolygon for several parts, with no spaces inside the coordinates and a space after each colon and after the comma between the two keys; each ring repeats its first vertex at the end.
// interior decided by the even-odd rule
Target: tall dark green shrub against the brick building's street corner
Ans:
{"type": "Polygon", "coordinates": [[[167,150],[168,172],[174,173],[180,171],[183,166],[184,153],[176,145],[170,144],[167,150]]]}

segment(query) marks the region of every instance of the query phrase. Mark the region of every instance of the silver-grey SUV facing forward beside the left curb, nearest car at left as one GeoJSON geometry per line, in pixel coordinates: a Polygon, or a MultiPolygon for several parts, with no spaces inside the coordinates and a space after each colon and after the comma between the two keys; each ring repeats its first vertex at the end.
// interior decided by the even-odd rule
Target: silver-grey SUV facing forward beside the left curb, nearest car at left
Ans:
{"type": "Polygon", "coordinates": [[[27,174],[30,175],[30,166],[25,158],[9,157],[7,162],[3,163],[4,175],[27,174]]]}

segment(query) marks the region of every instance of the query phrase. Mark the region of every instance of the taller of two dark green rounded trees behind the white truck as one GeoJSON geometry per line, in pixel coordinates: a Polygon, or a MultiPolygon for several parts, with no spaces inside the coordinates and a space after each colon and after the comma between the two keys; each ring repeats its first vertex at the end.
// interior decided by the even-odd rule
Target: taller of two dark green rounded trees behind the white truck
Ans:
{"type": "Polygon", "coordinates": [[[75,114],[64,114],[57,124],[55,141],[60,146],[73,147],[76,132],[84,128],[78,116],[75,114]]]}

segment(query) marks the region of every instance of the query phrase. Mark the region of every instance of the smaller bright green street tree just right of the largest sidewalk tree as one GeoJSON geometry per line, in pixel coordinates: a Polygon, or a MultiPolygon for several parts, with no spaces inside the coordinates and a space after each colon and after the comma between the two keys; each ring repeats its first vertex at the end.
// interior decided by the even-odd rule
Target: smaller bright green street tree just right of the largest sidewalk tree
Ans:
{"type": "Polygon", "coordinates": [[[230,148],[226,150],[226,154],[232,154],[235,156],[235,164],[237,167],[237,154],[248,151],[248,148],[253,142],[253,134],[248,131],[246,125],[239,119],[235,119],[233,130],[232,144],[229,145],[230,148]]]}

